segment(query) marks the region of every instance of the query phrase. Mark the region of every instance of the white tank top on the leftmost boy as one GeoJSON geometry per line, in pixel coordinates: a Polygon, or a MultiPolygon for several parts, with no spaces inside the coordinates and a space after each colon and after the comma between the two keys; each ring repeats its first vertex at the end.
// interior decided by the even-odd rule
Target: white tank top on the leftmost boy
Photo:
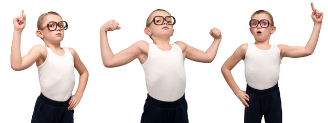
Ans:
{"type": "Polygon", "coordinates": [[[74,58],[67,48],[65,55],[59,56],[50,48],[45,62],[38,66],[41,93],[55,101],[66,101],[75,84],[74,58]]]}

